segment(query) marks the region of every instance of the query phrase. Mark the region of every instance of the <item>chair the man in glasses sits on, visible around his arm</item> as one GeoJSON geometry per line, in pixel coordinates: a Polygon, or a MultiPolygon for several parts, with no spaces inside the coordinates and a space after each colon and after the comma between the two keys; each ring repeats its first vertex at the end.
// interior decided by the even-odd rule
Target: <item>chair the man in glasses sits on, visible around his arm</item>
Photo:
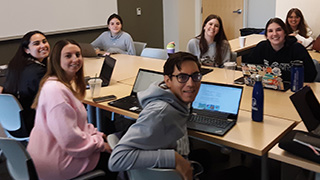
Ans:
{"type": "MultiPolygon", "coordinates": [[[[119,142],[116,134],[109,134],[107,141],[111,149],[119,142]]],[[[146,168],[127,171],[130,180],[182,180],[182,176],[175,169],[146,168]]]]}

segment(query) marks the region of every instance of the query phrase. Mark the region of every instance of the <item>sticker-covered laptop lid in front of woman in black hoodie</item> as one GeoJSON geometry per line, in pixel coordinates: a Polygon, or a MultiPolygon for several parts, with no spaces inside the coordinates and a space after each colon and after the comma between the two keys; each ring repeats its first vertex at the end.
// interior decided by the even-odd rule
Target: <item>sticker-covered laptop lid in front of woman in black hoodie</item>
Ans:
{"type": "Polygon", "coordinates": [[[279,91],[290,89],[290,82],[286,82],[281,77],[281,69],[278,67],[264,66],[261,64],[241,64],[244,83],[248,86],[254,85],[252,75],[262,75],[262,84],[264,88],[279,91]]]}

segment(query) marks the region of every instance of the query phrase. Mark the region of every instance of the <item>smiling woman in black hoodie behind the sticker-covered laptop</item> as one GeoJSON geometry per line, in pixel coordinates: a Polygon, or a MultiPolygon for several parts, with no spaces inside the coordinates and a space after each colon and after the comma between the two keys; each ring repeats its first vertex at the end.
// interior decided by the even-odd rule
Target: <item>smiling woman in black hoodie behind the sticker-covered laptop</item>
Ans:
{"type": "Polygon", "coordinates": [[[317,71],[306,50],[297,39],[288,36],[284,22],[279,18],[272,18],[266,24],[265,36],[253,49],[245,63],[264,64],[281,69],[285,81],[291,79],[291,61],[301,60],[304,65],[304,81],[313,82],[317,71]]]}

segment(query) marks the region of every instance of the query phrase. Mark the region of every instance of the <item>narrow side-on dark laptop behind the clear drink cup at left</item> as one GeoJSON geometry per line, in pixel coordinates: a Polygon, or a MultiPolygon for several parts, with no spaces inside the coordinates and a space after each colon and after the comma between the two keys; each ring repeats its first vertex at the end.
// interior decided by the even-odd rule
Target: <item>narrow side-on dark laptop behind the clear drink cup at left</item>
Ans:
{"type": "MultiPolygon", "coordinates": [[[[101,67],[101,71],[100,71],[100,75],[99,75],[99,78],[102,80],[102,84],[101,84],[102,87],[109,85],[109,83],[111,81],[112,72],[113,72],[115,65],[116,65],[116,59],[114,59],[110,56],[106,56],[104,58],[104,61],[103,61],[102,67],[101,67]]],[[[88,81],[93,78],[95,78],[95,77],[85,77],[87,89],[90,88],[88,81]]]]}

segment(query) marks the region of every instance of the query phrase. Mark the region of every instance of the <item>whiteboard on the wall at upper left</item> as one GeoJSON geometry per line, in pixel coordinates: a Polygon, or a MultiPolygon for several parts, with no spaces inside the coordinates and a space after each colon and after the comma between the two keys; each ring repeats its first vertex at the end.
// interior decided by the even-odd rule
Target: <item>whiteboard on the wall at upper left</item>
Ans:
{"type": "Polygon", "coordinates": [[[46,35],[106,26],[117,0],[2,0],[0,40],[22,37],[31,30],[46,35]]]}

